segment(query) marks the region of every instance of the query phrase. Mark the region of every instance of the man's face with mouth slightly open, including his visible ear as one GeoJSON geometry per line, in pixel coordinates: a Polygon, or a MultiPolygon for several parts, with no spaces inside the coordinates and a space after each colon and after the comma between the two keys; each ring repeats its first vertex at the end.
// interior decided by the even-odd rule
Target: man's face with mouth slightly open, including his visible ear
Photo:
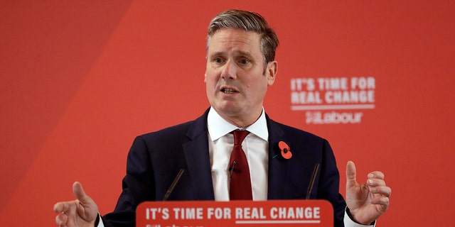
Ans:
{"type": "Polygon", "coordinates": [[[262,111],[267,86],[273,84],[276,72],[277,62],[269,62],[264,70],[258,33],[220,29],[213,34],[207,50],[208,101],[231,123],[254,122],[262,111]]]}

